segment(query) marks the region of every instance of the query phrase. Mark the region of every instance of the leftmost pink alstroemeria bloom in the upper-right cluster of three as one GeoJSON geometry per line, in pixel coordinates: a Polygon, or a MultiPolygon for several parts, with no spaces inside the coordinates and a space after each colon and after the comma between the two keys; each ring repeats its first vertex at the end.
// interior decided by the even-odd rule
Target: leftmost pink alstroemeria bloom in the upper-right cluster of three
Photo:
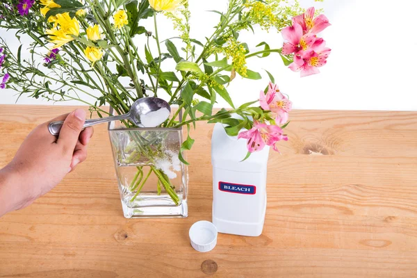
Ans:
{"type": "Polygon", "coordinates": [[[297,54],[299,51],[306,51],[316,41],[316,35],[307,33],[303,35],[302,26],[296,22],[293,26],[288,26],[282,30],[282,37],[287,42],[284,42],[282,47],[283,55],[297,54]]]}

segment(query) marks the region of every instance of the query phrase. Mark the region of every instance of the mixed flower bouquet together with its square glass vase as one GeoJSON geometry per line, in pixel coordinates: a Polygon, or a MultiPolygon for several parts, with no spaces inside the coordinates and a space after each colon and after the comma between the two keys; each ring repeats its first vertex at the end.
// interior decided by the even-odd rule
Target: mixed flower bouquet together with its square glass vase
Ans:
{"type": "Polygon", "coordinates": [[[329,26],[327,18],[314,8],[304,11],[297,2],[229,0],[224,10],[208,13],[218,14],[218,22],[204,40],[197,40],[190,35],[192,13],[186,0],[3,1],[1,28],[31,43],[10,49],[1,39],[0,86],[19,96],[77,100],[99,117],[126,113],[142,97],[163,97],[178,106],[158,128],[113,122],[109,134],[124,215],[185,217],[184,151],[193,146],[189,131],[195,122],[221,122],[229,136],[247,139],[243,159],[265,145],[277,151],[277,142],[288,140],[283,129],[291,101],[270,72],[270,84],[259,99],[234,105],[229,83],[262,78],[247,68],[247,60],[275,54],[306,76],[318,73],[330,52],[317,36],[329,26]],[[160,38],[161,17],[170,19],[177,35],[160,38]],[[259,26],[272,35],[281,32],[284,45],[260,42],[251,50],[239,40],[241,32],[256,33],[259,26]],[[22,58],[22,47],[29,49],[28,57],[22,58]],[[213,111],[218,98],[231,110],[213,111]]]}

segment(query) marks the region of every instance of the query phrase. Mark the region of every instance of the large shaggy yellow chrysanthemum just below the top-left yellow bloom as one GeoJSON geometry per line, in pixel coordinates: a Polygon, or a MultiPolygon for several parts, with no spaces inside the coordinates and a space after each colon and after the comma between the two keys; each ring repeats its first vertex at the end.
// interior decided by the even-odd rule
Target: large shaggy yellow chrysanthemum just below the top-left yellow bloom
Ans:
{"type": "Polygon", "coordinates": [[[47,30],[49,40],[55,45],[52,48],[62,47],[63,44],[74,40],[72,35],[78,36],[80,34],[80,26],[78,20],[71,18],[69,13],[56,15],[55,25],[59,25],[59,29],[54,28],[47,30]]]}

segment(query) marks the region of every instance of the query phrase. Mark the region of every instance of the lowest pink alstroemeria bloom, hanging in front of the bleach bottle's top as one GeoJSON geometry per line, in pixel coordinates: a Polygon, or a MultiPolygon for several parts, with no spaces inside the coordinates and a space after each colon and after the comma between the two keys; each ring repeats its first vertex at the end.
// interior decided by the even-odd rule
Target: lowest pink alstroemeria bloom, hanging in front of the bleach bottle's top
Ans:
{"type": "Polygon", "coordinates": [[[279,152],[276,143],[280,140],[288,140],[281,127],[258,121],[254,121],[252,129],[240,132],[238,139],[240,138],[247,139],[247,150],[251,153],[261,151],[265,145],[272,146],[272,149],[279,152]]]}

